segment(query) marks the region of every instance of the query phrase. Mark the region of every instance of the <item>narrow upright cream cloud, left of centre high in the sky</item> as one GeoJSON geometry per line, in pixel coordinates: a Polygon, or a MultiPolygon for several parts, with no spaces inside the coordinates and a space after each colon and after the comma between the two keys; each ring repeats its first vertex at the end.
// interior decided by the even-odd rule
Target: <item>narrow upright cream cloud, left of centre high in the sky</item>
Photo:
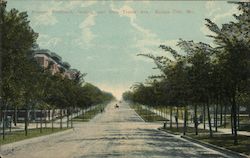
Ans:
{"type": "Polygon", "coordinates": [[[75,42],[82,47],[90,46],[96,35],[92,32],[91,28],[95,26],[96,12],[88,14],[87,18],[79,25],[81,29],[80,38],[77,38],[75,42]]]}

